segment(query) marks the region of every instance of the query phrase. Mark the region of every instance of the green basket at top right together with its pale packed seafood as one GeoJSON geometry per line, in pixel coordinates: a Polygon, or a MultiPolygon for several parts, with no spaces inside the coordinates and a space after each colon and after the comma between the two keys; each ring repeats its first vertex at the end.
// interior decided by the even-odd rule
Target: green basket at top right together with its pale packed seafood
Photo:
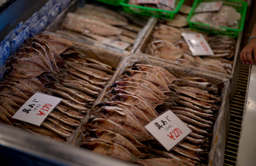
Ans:
{"type": "Polygon", "coordinates": [[[187,21],[193,30],[237,37],[243,31],[246,11],[246,1],[195,0],[187,21]]]}

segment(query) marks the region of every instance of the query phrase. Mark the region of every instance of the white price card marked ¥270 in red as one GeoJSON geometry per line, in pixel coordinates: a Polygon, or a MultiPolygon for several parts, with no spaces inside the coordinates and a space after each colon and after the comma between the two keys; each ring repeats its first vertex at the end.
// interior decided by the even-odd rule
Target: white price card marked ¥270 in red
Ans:
{"type": "Polygon", "coordinates": [[[145,128],[167,149],[171,150],[192,131],[171,110],[167,110],[145,128]]]}

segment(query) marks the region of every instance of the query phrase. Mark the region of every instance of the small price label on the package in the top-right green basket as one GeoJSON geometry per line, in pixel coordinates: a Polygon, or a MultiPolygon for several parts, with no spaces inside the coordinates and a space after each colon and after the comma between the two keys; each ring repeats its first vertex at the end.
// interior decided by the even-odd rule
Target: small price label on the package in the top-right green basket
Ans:
{"type": "Polygon", "coordinates": [[[206,11],[219,11],[222,6],[221,1],[215,1],[215,2],[201,2],[198,4],[195,12],[206,12],[206,11]]]}

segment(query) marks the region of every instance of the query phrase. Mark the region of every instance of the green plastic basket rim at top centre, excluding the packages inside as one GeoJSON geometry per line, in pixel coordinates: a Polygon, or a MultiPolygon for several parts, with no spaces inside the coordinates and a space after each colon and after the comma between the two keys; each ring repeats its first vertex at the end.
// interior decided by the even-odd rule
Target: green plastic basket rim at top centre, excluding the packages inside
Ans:
{"type": "Polygon", "coordinates": [[[128,1],[129,0],[125,0],[124,2],[122,2],[120,4],[124,8],[125,12],[141,14],[141,15],[144,15],[144,16],[158,17],[158,18],[161,18],[161,19],[173,19],[174,15],[176,13],[178,13],[178,11],[180,10],[181,5],[184,3],[185,0],[176,0],[174,11],[155,9],[155,8],[152,8],[152,7],[131,5],[131,4],[128,4],[128,1]]]}

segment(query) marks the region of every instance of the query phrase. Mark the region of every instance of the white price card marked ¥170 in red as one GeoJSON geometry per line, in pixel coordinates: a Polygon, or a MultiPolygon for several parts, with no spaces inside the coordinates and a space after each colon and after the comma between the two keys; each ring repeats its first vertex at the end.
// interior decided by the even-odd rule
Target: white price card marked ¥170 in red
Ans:
{"type": "Polygon", "coordinates": [[[40,126],[61,100],[59,97],[36,92],[20,107],[13,118],[40,126]]]}

